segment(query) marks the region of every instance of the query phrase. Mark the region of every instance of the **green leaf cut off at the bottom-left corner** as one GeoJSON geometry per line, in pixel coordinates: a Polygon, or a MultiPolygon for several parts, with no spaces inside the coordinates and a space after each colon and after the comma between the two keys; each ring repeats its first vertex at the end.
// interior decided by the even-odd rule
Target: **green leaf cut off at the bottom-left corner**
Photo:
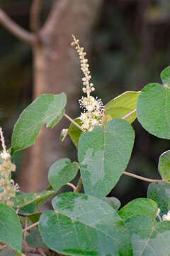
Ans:
{"type": "Polygon", "coordinates": [[[15,210],[3,203],[0,203],[0,230],[0,241],[21,253],[21,223],[15,210]]]}

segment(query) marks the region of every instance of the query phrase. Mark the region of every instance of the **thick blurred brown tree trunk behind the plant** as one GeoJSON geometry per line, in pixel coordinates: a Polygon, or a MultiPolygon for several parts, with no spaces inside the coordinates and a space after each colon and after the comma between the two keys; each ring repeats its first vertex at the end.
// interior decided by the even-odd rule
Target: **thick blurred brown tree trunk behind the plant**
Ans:
{"type": "MultiPolygon", "coordinates": [[[[79,57],[70,46],[72,34],[79,38],[81,46],[85,46],[86,51],[89,51],[91,28],[102,2],[103,0],[55,1],[50,16],[33,44],[33,97],[42,93],[65,92],[66,113],[72,118],[78,115],[77,100],[82,88],[79,57]]],[[[29,149],[31,157],[30,161],[25,161],[21,190],[35,192],[47,186],[47,173],[52,163],[67,157],[69,139],[60,142],[59,137],[61,129],[68,126],[69,122],[63,118],[54,129],[42,128],[36,144],[29,149]]]]}

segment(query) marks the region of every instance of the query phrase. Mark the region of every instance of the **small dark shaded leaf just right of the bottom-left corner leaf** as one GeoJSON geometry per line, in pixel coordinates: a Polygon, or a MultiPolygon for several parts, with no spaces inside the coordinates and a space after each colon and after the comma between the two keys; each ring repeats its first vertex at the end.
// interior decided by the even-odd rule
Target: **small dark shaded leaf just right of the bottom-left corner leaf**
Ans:
{"type": "Polygon", "coordinates": [[[30,230],[30,235],[26,237],[26,242],[28,245],[33,247],[47,248],[45,243],[42,241],[40,231],[37,228],[30,230]]]}

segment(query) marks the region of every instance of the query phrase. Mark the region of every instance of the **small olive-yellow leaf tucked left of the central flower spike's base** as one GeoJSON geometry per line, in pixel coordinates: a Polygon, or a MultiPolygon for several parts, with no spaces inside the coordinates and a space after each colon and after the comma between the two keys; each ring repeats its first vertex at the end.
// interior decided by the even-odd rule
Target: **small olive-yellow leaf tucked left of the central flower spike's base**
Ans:
{"type": "MultiPolygon", "coordinates": [[[[74,119],[74,121],[81,126],[81,120],[79,118],[74,119]]],[[[79,129],[76,125],[74,124],[69,125],[67,134],[72,139],[72,142],[74,143],[75,146],[77,146],[77,148],[79,145],[79,137],[81,133],[82,133],[81,129],[79,129]]]]}

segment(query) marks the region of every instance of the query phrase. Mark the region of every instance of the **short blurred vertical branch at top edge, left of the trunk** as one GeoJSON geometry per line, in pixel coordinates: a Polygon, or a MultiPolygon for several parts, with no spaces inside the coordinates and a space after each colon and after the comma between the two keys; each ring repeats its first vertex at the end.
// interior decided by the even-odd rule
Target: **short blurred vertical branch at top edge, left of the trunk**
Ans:
{"type": "Polygon", "coordinates": [[[37,33],[40,28],[40,4],[41,0],[33,0],[30,8],[30,29],[37,33]]]}

